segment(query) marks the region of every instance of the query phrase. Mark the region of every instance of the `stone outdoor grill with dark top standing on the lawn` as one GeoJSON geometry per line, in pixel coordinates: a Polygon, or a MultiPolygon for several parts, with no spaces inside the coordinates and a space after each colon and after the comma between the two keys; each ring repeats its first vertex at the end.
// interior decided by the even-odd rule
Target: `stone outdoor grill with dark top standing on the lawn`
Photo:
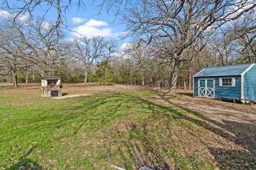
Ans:
{"type": "Polygon", "coordinates": [[[62,96],[62,85],[60,77],[42,77],[42,97],[62,96]]]}

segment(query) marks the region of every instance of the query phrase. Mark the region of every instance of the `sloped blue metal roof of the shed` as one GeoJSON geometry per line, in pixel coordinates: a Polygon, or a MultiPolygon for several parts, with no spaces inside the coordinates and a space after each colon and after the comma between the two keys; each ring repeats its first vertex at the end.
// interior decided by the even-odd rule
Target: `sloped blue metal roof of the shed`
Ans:
{"type": "Polygon", "coordinates": [[[245,71],[250,70],[250,68],[255,65],[250,64],[239,64],[239,65],[229,65],[220,67],[208,67],[197,74],[194,77],[215,77],[215,76],[230,76],[230,75],[242,75],[245,71]]]}

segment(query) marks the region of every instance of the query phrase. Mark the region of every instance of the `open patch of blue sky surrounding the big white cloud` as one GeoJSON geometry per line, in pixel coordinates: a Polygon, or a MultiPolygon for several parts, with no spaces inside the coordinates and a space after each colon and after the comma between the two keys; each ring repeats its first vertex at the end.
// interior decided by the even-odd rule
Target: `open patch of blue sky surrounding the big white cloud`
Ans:
{"type": "MultiPolygon", "coordinates": [[[[80,8],[78,11],[76,6],[72,6],[67,12],[68,24],[72,29],[86,36],[101,35],[108,38],[117,37],[124,31],[124,26],[118,24],[118,19],[113,23],[115,20],[113,14],[108,14],[104,8],[100,11],[95,7],[96,5],[92,6],[91,2],[86,2],[86,9],[80,8]]],[[[70,38],[77,36],[79,37],[76,33],[69,33],[70,38]]]]}

